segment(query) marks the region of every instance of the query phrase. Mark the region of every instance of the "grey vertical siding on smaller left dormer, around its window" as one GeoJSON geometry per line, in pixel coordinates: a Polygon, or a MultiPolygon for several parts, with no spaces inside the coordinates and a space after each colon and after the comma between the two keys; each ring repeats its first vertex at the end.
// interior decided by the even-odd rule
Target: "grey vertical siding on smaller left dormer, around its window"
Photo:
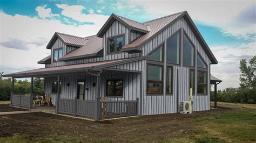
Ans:
{"type": "MultiPolygon", "coordinates": [[[[55,43],[52,45],[51,48],[51,67],[55,67],[55,66],[63,66],[65,65],[65,62],[62,61],[53,61],[54,59],[54,50],[57,48],[63,48],[63,55],[66,54],[66,45],[62,42],[62,40],[60,40],[59,38],[55,41],[55,43]]],[[[47,66],[49,67],[49,65],[47,66]]]]}

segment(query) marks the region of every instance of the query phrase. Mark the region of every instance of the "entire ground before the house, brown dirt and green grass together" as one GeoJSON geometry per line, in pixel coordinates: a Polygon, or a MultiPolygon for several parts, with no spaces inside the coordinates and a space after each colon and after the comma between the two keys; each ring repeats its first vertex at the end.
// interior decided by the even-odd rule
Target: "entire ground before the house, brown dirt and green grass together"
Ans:
{"type": "Polygon", "coordinates": [[[0,116],[0,142],[256,141],[256,105],[218,106],[224,108],[98,123],[41,112],[0,116]]]}

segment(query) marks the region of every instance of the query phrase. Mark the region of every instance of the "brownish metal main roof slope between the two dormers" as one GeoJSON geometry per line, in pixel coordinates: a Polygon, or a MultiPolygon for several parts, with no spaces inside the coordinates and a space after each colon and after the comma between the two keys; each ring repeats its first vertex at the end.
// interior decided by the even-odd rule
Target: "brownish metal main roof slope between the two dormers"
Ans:
{"type": "Polygon", "coordinates": [[[99,52],[103,49],[102,38],[99,38],[96,35],[92,35],[90,37],[86,37],[86,39],[88,40],[85,45],[64,55],[62,58],[60,58],[60,60],[63,61],[63,60],[71,60],[71,59],[85,58],[85,57],[91,57],[91,56],[101,56],[99,52]]]}

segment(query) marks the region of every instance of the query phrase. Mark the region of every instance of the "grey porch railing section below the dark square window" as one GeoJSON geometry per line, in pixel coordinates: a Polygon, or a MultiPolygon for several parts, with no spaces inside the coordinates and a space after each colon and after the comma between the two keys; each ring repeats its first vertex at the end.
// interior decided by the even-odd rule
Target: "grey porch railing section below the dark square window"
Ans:
{"type": "Polygon", "coordinates": [[[136,101],[100,102],[100,118],[138,115],[138,98],[136,101]]]}

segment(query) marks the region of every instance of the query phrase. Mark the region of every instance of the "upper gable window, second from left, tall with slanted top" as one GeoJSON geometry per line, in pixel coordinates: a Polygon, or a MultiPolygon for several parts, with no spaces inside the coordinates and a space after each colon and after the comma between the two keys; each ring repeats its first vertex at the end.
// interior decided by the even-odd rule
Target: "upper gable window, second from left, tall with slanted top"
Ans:
{"type": "Polygon", "coordinates": [[[167,62],[179,64],[180,33],[173,35],[166,43],[167,62]]]}

